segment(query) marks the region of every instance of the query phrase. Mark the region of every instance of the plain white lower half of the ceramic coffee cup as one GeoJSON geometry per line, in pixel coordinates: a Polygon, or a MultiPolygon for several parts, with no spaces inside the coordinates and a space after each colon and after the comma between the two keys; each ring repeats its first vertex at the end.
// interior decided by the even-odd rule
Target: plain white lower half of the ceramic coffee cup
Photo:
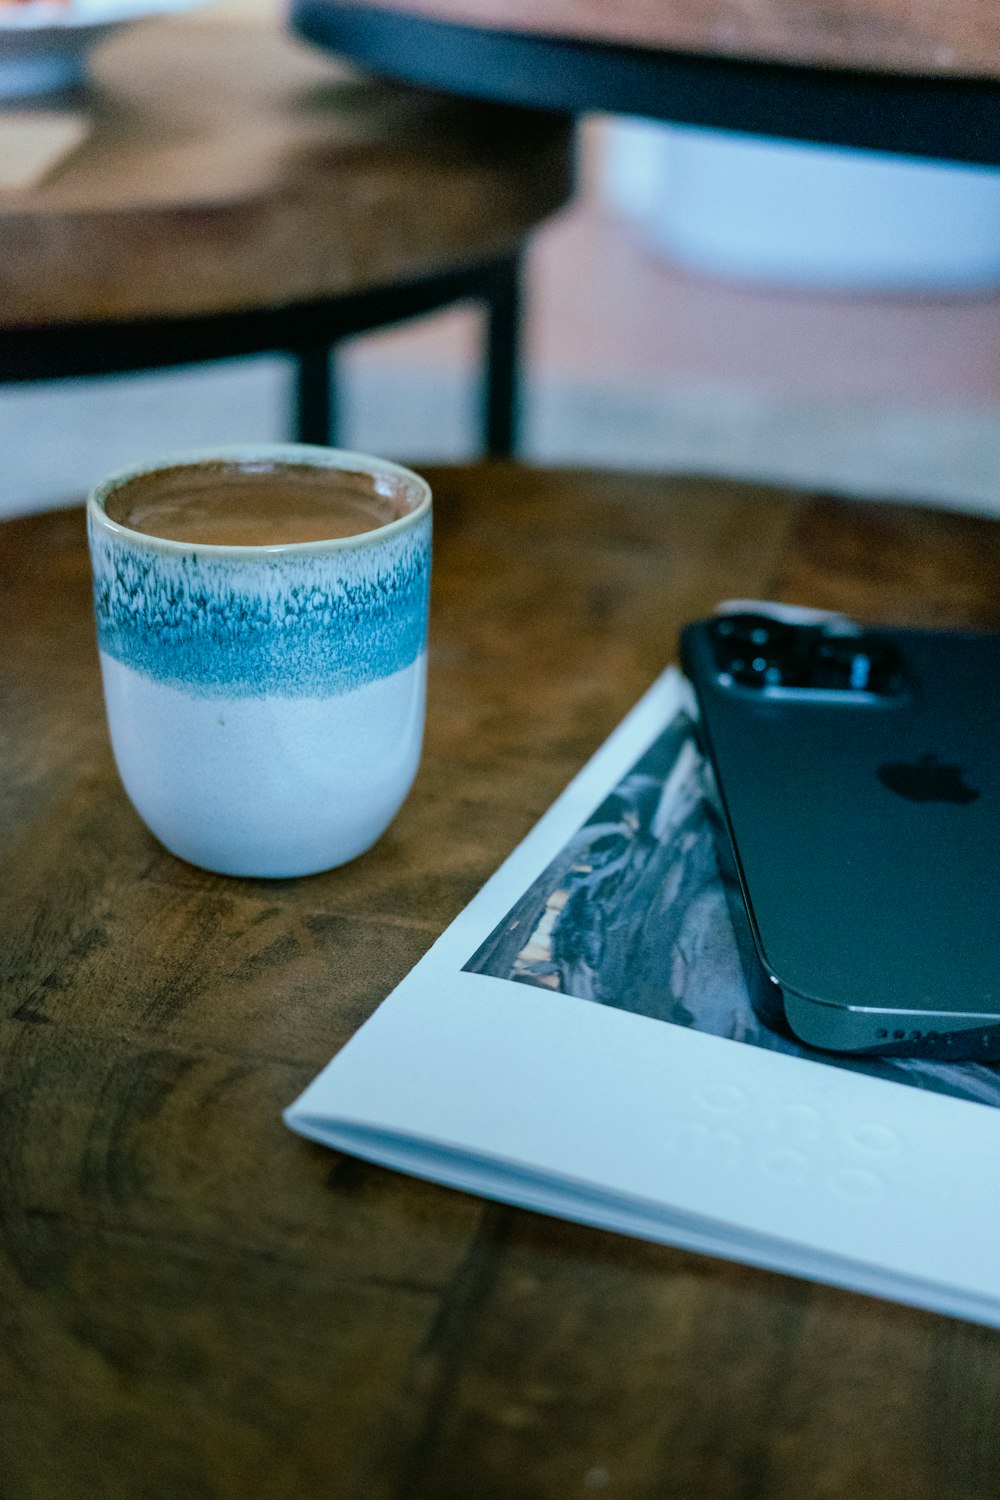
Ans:
{"type": "Polygon", "coordinates": [[[336,698],[193,698],[105,652],[100,670],[133,807],[171,854],[205,870],[285,879],[346,864],[412,786],[424,654],[336,698]]]}

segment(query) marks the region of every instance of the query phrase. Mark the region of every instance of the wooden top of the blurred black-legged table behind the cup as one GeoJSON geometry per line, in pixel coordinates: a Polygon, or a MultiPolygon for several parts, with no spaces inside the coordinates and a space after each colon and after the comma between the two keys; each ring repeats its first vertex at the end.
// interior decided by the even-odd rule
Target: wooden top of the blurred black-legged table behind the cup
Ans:
{"type": "Polygon", "coordinates": [[[0,190],[0,327],[271,308],[510,254],[571,124],[364,78],[277,28],[136,26],[85,142],[0,190]]]}

